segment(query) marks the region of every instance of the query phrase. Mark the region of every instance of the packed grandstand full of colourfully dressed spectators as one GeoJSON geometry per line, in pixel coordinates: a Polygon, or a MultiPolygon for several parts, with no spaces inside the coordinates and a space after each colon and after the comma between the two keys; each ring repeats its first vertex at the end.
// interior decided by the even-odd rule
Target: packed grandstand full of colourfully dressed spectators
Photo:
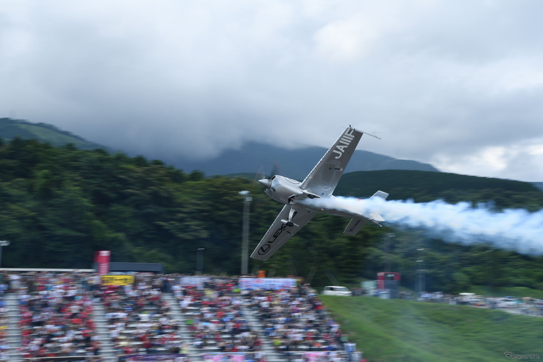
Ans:
{"type": "Polygon", "coordinates": [[[315,291],[294,279],[104,278],[3,271],[0,361],[358,362],[315,291]]]}

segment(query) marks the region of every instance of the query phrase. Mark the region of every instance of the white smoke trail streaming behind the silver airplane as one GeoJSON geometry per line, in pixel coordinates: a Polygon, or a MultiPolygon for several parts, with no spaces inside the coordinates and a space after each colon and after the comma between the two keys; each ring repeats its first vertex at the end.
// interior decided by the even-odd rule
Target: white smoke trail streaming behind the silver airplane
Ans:
{"type": "Polygon", "coordinates": [[[327,208],[354,211],[362,215],[378,213],[389,224],[424,228],[433,236],[449,242],[475,244],[489,242],[522,254],[543,254],[543,210],[529,213],[524,209],[491,211],[488,207],[444,201],[414,203],[383,201],[377,197],[361,202],[351,197],[313,199],[327,208]]]}

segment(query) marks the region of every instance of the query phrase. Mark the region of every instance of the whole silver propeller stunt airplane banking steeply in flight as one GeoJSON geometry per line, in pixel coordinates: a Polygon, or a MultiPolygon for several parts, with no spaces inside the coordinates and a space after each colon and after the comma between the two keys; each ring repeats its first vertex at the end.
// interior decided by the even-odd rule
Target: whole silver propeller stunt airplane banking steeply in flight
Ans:
{"type": "MultiPolygon", "coordinates": [[[[381,215],[364,215],[342,205],[341,199],[332,195],[363,134],[378,138],[349,126],[301,183],[277,174],[270,179],[258,180],[266,195],[285,206],[252,252],[252,259],[268,260],[319,213],[350,217],[351,221],[343,232],[347,235],[356,235],[368,222],[381,227],[379,222],[384,221],[381,215]]],[[[386,199],[387,196],[386,192],[377,191],[370,199],[386,199]]]]}

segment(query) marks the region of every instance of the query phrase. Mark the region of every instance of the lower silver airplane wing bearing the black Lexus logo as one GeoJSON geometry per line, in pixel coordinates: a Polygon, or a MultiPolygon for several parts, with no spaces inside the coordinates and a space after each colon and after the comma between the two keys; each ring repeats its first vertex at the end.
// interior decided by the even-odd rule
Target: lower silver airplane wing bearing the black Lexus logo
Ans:
{"type": "Polygon", "coordinates": [[[309,211],[306,209],[296,209],[296,213],[292,217],[294,226],[287,226],[281,220],[288,219],[288,214],[291,211],[289,205],[285,205],[279,215],[277,215],[273,224],[264,238],[258,243],[255,251],[252,252],[251,258],[266,261],[271,255],[273,255],[283,244],[291,239],[294,234],[307,224],[308,221],[313,219],[313,216],[317,215],[315,211],[309,211]]]}

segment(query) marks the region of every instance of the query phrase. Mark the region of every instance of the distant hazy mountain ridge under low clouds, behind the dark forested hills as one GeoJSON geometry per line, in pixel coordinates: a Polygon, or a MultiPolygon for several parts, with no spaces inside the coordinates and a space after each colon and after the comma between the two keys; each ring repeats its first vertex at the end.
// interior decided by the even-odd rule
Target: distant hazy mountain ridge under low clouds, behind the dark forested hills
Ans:
{"type": "MultiPolygon", "coordinates": [[[[47,123],[33,123],[27,120],[0,118],[0,137],[11,140],[16,136],[22,139],[34,139],[50,143],[53,146],[65,146],[73,143],[80,149],[104,148],[112,149],[88,141],[81,136],[60,129],[47,123]]],[[[286,149],[266,143],[246,142],[238,149],[225,149],[217,157],[206,160],[174,159],[168,155],[159,158],[186,171],[199,170],[207,176],[215,174],[228,175],[235,173],[256,173],[261,166],[262,173],[270,173],[275,163],[280,173],[295,179],[304,179],[313,166],[326,153],[327,148],[309,146],[298,149],[286,149]]],[[[128,150],[127,154],[135,155],[128,150]]],[[[414,160],[401,160],[386,155],[357,149],[346,167],[345,172],[376,170],[418,170],[439,172],[429,164],[414,160]]]]}

